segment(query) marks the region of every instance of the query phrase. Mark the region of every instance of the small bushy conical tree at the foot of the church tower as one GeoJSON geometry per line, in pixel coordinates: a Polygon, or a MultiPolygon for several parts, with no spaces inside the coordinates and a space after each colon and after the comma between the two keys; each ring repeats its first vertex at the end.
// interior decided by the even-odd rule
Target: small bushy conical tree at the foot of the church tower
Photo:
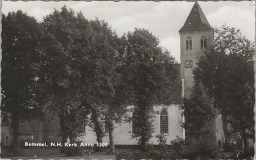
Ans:
{"type": "Polygon", "coordinates": [[[195,139],[199,145],[200,141],[212,137],[216,110],[213,100],[207,95],[202,84],[195,84],[191,97],[184,99],[180,108],[184,110],[183,116],[186,117],[183,127],[186,129],[188,139],[195,139]]]}

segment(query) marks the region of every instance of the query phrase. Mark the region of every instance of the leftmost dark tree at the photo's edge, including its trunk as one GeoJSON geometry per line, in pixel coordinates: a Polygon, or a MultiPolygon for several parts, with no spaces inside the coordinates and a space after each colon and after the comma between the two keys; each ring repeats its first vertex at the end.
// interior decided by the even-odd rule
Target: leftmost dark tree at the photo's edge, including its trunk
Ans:
{"type": "Polygon", "coordinates": [[[33,72],[38,63],[41,29],[34,17],[18,10],[3,15],[2,105],[4,118],[10,116],[13,154],[19,154],[20,123],[42,117],[44,94],[33,72]],[[7,113],[7,114],[5,114],[7,113]]]}

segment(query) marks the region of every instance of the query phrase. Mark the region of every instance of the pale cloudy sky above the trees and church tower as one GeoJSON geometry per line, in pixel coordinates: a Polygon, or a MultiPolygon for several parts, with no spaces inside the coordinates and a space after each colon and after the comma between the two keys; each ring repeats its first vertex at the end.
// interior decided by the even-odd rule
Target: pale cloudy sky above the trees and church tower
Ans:
{"type": "MultiPolygon", "coordinates": [[[[65,4],[86,19],[105,20],[119,36],[134,28],[145,28],[159,38],[161,47],[168,49],[180,63],[179,29],[184,25],[194,2],[186,1],[2,1],[4,14],[22,10],[42,21],[43,17],[60,10],[65,4]]],[[[255,5],[250,1],[218,1],[199,4],[213,28],[223,24],[241,29],[242,35],[254,41],[255,5]]]]}

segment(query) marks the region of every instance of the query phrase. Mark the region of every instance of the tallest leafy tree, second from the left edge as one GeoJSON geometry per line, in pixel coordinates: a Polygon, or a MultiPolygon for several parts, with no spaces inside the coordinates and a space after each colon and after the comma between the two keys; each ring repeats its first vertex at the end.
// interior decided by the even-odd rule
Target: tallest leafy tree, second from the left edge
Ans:
{"type": "Polygon", "coordinates": [[[81,36],[88,20],[65,6],[42,22],[41,61],[37,73],[49,95],[49,108],[60,117],[63,142],[75,141],[88,123],[90,110],[83,105],[81,86],[81,36]],[[82,20],[83,19],[83,20],[82,20]],[[76,127],[74,127],[76,126],[76,127]]]}

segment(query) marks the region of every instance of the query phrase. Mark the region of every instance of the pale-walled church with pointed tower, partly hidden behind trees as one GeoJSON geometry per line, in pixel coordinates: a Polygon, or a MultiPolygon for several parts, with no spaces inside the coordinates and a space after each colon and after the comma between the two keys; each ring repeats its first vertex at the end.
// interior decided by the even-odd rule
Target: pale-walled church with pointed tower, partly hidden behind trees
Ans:
{"type": "MultiPolygon", "coordinates": [[[[191,12],[179,30],[180,34],[180,83],[181,92],[179,97],[189,97],[193,88],[193,68],[200,56],[204,54],[205,49],[212,45],[214,39],[214,29],[207,21],[202,8],[195,2],[191,12]]],[[[186,131],[181,127],[185,118],[182,117],[180,101],[170,106],[154,106],[158,111],[154,117],[155,131],[150,142],[158,145],[159,141],[156,135],[162,134],[166,138],[166,143],[179,138],[186,138],[186,131]]],[[[51,143],[61,142],[59,118],[52,116],[45,108],[45,119],[42,121],[31,120],[25,122],[20,127],[20,142],[29,141],[31,143],[51,143]]],[[[132,113],[128,113],[132,116],[132,113]]],[[[131,139],[131,133],[136,132],[136,124],[124,123],[116,124],[113,131],[115,148],[132,148],[138,145],[136,138],[131,139]]],[[[109,143],[108,129],[104,129],[104,143],[109,143]]],[[[12,131],[9,127],[2,127],[2,144],[10,146],[12,143],[12,131]]],[[[216,118],[216,138],[224,141],[221,118],[216,118]]],[[[92,128],[84,126],[81,136],[77,138],[83,143],[97,143],[97,137],[92,128]]]]}

